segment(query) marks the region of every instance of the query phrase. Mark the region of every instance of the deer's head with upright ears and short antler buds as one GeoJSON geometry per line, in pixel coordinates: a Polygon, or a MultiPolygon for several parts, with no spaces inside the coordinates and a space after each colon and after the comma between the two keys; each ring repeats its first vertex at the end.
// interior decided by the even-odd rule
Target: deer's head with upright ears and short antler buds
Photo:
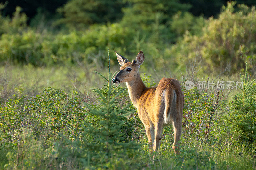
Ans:
{"type": "Polygon", "coordinates": [[[145,58],[143,52],[140,51],[136,57],[136,60],[132,60],[132,62],[129,62],[126,58],[117,53],[116,57],[121,67],[120,71],[116,74],[112,82],[115,84],[119,84],[122,82],[129,82],[135,79],[139,71],[140,65],[143,63],[145,58]]]}

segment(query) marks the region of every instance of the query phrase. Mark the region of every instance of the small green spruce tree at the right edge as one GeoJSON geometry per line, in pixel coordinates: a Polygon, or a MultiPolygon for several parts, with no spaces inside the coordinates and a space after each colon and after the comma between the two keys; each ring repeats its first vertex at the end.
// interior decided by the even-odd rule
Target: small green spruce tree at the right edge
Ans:
{"type": "Polygon", "coordinates": [[[236,142],[254,143],[256,140],[256,85],[255,79],[250,81],[250,74],[241,76],[243,85],[232,100],[227,103],[226,114],[223,116],[223,130],[228,137],[236,142]]]}

